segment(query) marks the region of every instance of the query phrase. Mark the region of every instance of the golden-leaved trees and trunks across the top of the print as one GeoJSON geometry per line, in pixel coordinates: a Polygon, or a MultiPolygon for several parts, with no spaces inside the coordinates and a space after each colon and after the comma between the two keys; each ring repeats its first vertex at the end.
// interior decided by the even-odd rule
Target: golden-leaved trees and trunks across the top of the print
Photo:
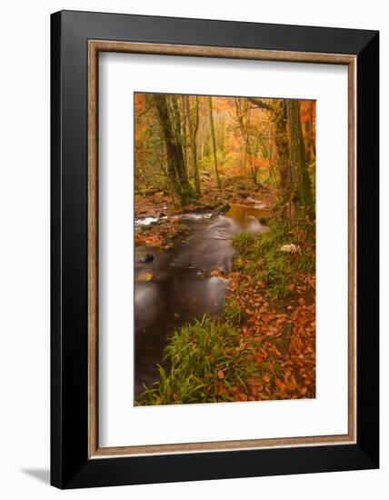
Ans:
{"type": "Polygon", "coordinates": [[[314,120],[314,101],[135,95],[137,187],[188,205],[209,182],[219,190],[227,179],[254,189],[264,182],[276,188],[285,221],[314,219],[314,120]]]}

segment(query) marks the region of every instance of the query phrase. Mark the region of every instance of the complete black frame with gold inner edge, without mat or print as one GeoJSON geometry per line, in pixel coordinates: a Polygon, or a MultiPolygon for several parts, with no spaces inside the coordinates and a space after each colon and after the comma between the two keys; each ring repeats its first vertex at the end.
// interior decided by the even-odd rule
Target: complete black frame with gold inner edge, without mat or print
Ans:
{"type": "Polygon", "coordinates": [[[379,466],[378,68],[375,31],[75,11],[51,16],[52,485],[135,485],[379,466]],[[348,66],[347,435],[99,447],[101,52],[348,66]]]}

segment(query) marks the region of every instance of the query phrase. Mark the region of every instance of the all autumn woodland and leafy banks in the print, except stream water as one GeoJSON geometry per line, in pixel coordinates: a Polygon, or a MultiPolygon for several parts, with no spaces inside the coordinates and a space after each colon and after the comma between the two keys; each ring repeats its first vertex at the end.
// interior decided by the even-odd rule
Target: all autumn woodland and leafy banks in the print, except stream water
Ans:
{"type": "Polygon", "coordinates": [[[201,275],[228,283],[223,311],[169,332],[138,405],[315,397],[315,133],[314,101],[135,94],[135,217],[164,220],[135,245],[168,251],[180,215],[233,204],[266,228],[201,275]]]}

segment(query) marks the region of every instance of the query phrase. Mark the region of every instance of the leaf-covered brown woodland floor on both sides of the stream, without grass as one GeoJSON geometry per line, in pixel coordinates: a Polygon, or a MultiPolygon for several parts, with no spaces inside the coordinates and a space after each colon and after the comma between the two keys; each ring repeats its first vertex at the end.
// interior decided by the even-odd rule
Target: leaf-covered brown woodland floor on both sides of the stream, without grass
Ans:
{"type": "MultiPolygon", "coordinates": [[[[162,193],[137,196],[135,218],[179,215],[183,212],[217,213],[223,212],[231,203],[253,205],[253,199],[264,203],[264,224],[267,225],[277,215],[272,190],[267,187],[246,189],[234,182],[221,192],[211,182],[207,183],[203,187],[202,203],[188,205],[184,210],[172,207],[170,196],[162,193]]],[[[135,244],[168,247],[174,245],[175,236],[181,230],[184,229],[179,219],[169,218],[164,225],[147,226],[138,232],[135,244]]],[[[254,239],[249,240],[247,245],[238,242],[234,246],[233,271],[225,276],[230,282],[224,309],[224,317],[229,324],[234,323],[234,338],[232,343],[224,345],[222,354],[233,356],[236,363],[243,363],[248,367],[247,373],[234,376],[234,365],[215,362],[209,373],[196,375],[196,383],[203,385],[204,401],[199,402],[315,396],[314,243],[312,238],[309,243],[301,228],[284,237],[283,243],[293,243],[298,251],[284,253],[282,262],[280,259],[271,260],[273,254],[269,256],[262,250],[258,253],[254,239]],[[305,269],[306,258],[311,259],[311,265],[305,269]],[[263,272],[264,265],[281,265],[275,267],[275,274],[286,270],[284,276],[276,275],[283,284],[279,295],[274,295],[273,277],[270,279],[269,273],[263,272]],[[234,321],[231,322],[233,316],[234,321]]],[[[214,354],[207,356],[213,358],[214,354]]],[[[150,391],[146,404],[189,402],[183,401],[173,383],[169,390],[172,394],[168,401],[161,395],[161,385],[150,391]]]]}

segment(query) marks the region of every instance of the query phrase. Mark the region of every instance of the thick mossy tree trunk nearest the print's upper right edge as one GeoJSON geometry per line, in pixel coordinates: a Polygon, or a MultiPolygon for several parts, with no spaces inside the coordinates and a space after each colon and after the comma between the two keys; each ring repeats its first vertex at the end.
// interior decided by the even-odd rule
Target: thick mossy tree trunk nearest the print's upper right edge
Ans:
{"type": "Polygon", "coordinates": [[[303,131],[300,121],[300,104],[297,100],[286,101],[288,116],[289,151],[292,168],[295,172],[294,198],[298,215],[314,218],[314,197],[305,156],[303,131]]]}

